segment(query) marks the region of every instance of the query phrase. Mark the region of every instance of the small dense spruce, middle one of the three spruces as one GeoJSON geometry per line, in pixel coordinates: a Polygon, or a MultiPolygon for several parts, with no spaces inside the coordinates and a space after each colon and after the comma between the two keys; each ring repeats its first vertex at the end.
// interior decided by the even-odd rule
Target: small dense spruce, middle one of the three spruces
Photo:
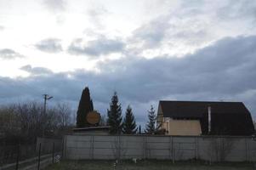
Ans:
{"type": "Polygon", "coordinates": [[[122,122],[122,133],[135,134],[137,130],[138,128],[136,126],[132,108],[130,107],[130,105],[128,105],[125,112],[125,117],[122,122]]]}

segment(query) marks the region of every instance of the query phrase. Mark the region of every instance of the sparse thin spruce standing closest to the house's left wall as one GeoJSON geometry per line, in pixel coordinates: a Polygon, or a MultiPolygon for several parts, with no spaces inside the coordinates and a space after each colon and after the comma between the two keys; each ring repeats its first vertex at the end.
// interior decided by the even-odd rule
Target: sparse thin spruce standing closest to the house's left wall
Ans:
{"type": "Polygon", "coordinates": [[[156,114],[152,105],[151,110],[148,111],[148,119],[145,126],[145,133],[154,134],[156,132],[156,114]]]}

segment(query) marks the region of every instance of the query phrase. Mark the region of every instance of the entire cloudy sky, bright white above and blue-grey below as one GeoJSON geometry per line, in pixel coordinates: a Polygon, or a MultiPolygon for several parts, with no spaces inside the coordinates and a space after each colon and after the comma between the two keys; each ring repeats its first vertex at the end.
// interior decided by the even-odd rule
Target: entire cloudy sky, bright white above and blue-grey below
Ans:
{"type": "Polygon", "coordinates": [[[117,91],[139,124],[159,99],[242,101],[256,118],[254,0],[0,0],[0,103],[117,91]]]}

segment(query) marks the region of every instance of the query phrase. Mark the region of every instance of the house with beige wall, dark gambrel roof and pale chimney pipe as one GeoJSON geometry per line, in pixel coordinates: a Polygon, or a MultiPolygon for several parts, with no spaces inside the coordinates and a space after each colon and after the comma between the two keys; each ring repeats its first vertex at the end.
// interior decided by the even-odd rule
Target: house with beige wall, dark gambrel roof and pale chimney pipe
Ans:
{"type": "Polygon", "coordinates": [[[252,135],[253,120],[242,102],[159,101],[157,125],[166,135],[252,135]]]}

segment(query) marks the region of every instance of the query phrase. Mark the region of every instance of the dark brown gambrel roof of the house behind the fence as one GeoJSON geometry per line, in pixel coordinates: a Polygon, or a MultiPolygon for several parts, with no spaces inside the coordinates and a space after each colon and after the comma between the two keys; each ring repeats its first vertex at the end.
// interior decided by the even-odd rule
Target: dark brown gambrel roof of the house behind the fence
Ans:
{"type": "Polygon", "coordinates": [[[250,135],[254,132],[250,112],[242,102],[160,101],[164,117],[199,119],[202,134],[208,133],[208,106],[211,106],[212,133],[250,135]]]}

